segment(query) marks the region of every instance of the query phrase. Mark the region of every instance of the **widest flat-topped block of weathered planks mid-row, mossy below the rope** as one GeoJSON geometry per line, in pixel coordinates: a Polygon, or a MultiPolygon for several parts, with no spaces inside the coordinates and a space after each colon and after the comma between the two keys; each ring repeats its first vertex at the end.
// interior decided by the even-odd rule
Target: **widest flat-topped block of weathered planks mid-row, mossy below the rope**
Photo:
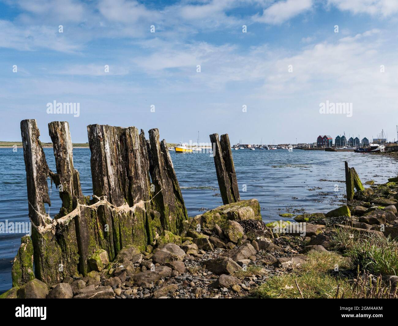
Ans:
{"type": "MultiPolygon", "coordinates": [[[[133,207],[142,202],[134,211],[111,209],[112,230],[108,236],[114,245],[114,253],[109,253],[112,259],[128,244],[144,248],[148,242],[146,215],[149,209],[144,203],[150,199],[146,144],[142,144],[136,127],[89,125],[87,129],[94,195],[105,195],[115,207],[133,207]]],[[[98,211],[100,219],[105,221],[103,213],[105,211],[98,211]]]]}

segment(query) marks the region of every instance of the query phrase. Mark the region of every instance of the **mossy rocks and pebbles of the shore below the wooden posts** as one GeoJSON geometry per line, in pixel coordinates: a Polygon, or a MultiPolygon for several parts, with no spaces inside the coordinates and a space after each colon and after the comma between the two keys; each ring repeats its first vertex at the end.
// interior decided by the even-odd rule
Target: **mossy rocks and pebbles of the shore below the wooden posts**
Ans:
{"type": "MultiPolygon", "coordinates": [[[[179,235],[164,231],[145,250],[126,246],[112,262],[105,250],[98,250],[89,258],[92,271],[86,276],[65,277],[50,287],[31,279],[1,297],[252,297],[274,278],[294,275],[313,252],[334,251],[344,255],[344,250],[336,250],[334,243],[338,229],[395,238],[398,236],[397,207],[398,177],[357,191],[349,205],[327,214],[302,214],[284,219],[282,223],[264,224],[256,199],[238,201],[189,218],[183,222],[184,230],[179,235]],[[305,225],[305,236],[292,233],[289,228],[297,222],[305,225]]],[[[29,238],[24,237],[22,244],[23,250],[16,257],[13,271],[17,266],[26,265],[26,256],[31,257],[29,238]]],[[[27,281],[33,274],[24,273],[19,277],[27,281]]],[[[386,286],[395,289],[397,276],[382,275],[382,279],[386,286]]]]}

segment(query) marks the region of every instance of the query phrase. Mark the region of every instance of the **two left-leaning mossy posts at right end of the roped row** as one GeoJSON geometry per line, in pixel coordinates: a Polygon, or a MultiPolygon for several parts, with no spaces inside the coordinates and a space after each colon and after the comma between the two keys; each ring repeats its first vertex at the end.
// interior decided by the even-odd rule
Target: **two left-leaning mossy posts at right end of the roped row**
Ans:
{"type": "Polygon", "coordinates": [[[154,185],[152,207],[160,213],[164,230],[178,233],[182,221],[188,219],[187,209],[177,180],[166,141],[159,141],[159,130],[149,133],[149,172],[154,185]]]}

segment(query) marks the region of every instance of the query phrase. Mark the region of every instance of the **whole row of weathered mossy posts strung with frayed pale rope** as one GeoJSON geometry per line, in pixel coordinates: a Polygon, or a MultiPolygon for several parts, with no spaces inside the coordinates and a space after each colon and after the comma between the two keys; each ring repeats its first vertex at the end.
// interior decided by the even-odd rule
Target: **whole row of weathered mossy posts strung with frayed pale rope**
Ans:
{"type": "Polygon", "coordinates": [[[53,285],[65,276],[87,275],[88,258],[99,249],[113,260],[127,245],[145,250],[164,230],[181,231],[188,218],[181,189],[158,129],[89,125],[93,197],[84,196],[73,166],[65,121],[49,123],[57,173],[46,162],[36,120],[21,121],[35,277],[53,285]],[[62,207],[55,219],[47,178],[59,189],[62,207]]]}

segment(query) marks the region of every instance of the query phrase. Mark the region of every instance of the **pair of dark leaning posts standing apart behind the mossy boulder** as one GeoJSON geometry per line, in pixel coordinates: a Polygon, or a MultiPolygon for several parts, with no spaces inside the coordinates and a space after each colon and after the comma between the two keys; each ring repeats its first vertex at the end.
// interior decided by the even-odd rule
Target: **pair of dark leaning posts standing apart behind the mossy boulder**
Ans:
{"type": "Polygon", "coordinates": [[[214,164],[216,166],[222,203],[224,205],[235,203],[240,200],[240,195],[228,135],[221,135],[220,143],[219,135],[212,134],[210,135],[210,141],[213,147],[214,164]]]}

